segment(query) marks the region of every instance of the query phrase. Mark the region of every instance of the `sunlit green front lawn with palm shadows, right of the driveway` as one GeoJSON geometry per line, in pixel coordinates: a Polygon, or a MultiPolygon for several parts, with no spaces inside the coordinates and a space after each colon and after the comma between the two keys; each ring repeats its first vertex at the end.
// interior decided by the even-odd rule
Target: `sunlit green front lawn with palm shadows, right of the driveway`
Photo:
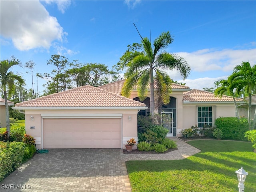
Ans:
{"type": "Polygon", "coordinates": [[[235,192],[235,171],[248,176],[245,191],[256,192],[256,154],[252,143],[221,140],[188,142],[202,152],[183,160],[126,162],[133,192],[235,192]]]}

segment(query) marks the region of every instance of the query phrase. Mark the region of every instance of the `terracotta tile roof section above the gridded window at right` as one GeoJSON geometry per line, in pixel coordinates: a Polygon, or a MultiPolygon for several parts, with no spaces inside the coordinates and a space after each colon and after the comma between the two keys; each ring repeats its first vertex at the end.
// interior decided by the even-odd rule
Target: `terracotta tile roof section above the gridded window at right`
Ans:
{"type": "MultiPolygon", "coordinates": [[[[183,102],[234,102],[230,96],[223,95],[222,98],[215,96],[212,92],[192,89],[183,93],[183,102]]],[[[242,99],[236,98],[236,101],[242,102],[242,99]]]]}

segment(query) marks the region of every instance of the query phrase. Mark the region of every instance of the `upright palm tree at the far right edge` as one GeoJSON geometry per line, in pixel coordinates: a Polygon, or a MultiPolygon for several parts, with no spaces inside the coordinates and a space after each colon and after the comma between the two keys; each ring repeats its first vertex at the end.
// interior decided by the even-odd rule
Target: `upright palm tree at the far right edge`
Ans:
{"type": "Polygon", "coordinates": [[[256,89],[256,65],[250,66],[249,62],[242,62],[234,67],[234,71],[230,76],[231,87],[237,91],[244,90],[249,95],[248,123],[251,128],[251,111],[252,111],[252,93],[256,89]]]}

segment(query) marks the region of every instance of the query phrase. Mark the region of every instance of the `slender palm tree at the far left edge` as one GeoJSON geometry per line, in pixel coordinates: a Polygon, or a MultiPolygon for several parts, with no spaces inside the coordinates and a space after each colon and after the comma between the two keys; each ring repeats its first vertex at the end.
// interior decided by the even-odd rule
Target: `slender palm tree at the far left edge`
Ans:
{"type": "Polygon", "coordinates": [[[8,72],[8,70],[14,65],[21,65],[21,62],[12,56],[9,60],[1,60],[0,64],[0,80],[1,80],[1,88],[4,92],[4,101],[5,101],[5,109],[6,109],[6,131],[8,131],[8,137],[10,136],[10,116],[9,116],[9,108],[7,102],[7,88],[9,96],[15,91],[14,81],[17,80],[18,83],[24,84],[24,80],[21,76],[13,74],[13,72],[8,72]]]}

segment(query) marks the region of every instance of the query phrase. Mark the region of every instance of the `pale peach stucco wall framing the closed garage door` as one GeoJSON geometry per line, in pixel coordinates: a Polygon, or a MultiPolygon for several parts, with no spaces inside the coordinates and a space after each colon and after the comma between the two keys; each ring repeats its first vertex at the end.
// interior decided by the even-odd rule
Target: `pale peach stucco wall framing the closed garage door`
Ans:
{"type": "MultiPolygon", "coordinates": [[[[90,118],[90,116],[101,117],[104,114],[116,114],[122,118],[122,145],[130,138],[137,136],[137,113],[138,110],[25,110],[26,133],[36,138],[36,147],[41,149],[42,143],[42,118],[68,118],[68,116],[79,116],[79,118],[90,118]],[[30,116],[33,116],[32,121],[30,116]],[[47,117],[45,117],[47,116],[47,117]],[[131,120],[129,121],[129,116],[131,120]],[[35,127],[31,129],[30,127],[35,127]]],[[[106,117],[107,118],[107,117],[106,117]]],[[[135,148],[135,147],[134,147],[135,148]]]]}

